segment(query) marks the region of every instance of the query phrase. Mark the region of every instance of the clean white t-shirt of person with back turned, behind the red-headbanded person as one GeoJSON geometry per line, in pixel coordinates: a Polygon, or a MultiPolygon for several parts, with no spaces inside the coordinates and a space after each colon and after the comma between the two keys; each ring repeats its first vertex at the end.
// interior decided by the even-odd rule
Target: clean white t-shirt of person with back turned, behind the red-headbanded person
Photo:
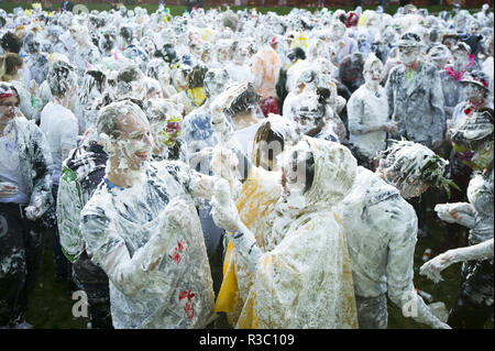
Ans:
{"type": "Polygon", "coordinates": [[[40,128],[46,136],[53,158],[53,183],[58,184],[61,177],[62,149],[72,150],[77,146],[79,131],[76,116],[59,103],[48,102],[41,113],[40,128]]]}

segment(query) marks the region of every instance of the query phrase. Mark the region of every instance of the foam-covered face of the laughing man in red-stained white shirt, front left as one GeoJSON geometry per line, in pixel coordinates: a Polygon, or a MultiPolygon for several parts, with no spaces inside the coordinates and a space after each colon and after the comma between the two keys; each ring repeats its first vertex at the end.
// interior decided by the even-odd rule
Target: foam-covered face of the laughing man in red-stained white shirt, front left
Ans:
{"type": "Polygon", "coordinates": [[[117,156],[123,162],[122,168],[140,171],[150,160],[153,138],[150,123],[142,117],[130,114],[119,123],[120,138],[114,142],[117,156]]]}

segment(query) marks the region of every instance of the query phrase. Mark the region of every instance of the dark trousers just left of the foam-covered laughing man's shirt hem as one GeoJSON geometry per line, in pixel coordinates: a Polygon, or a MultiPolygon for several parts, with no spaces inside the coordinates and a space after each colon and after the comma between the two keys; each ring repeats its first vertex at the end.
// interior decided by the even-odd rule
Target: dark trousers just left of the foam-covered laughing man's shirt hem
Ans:
{"type": "Polygon", "coordinates": [[[74,281],[86,292],[94,329],[111,329],[110,292],[107,274],[91,262],[86,251],[73,264],[74,281]]]}

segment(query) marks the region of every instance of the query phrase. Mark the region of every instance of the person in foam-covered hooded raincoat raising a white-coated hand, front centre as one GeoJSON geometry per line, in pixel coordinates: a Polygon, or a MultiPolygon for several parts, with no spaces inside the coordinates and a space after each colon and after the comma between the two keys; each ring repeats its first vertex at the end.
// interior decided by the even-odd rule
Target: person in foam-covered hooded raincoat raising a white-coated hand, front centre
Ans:
{"type": "Polygon", "coordinates": [[[280,163],[283,195],[263,252],[216,182],[213,219],[253,274],[238,328],[358,328],[351,262],[333,206],[351,190],[356,162],[333,142],[305,136],[280,163]]]}

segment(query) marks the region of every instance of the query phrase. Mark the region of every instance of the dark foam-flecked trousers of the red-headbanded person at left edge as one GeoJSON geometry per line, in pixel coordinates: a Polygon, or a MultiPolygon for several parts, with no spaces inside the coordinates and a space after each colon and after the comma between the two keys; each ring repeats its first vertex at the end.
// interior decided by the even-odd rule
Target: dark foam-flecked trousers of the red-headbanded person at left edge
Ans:
{"type": "Polygon", "coordinates": [[[45,230],[24,208],[0,204],[0,327],[23,320],[43,261],[45,230]]]}

